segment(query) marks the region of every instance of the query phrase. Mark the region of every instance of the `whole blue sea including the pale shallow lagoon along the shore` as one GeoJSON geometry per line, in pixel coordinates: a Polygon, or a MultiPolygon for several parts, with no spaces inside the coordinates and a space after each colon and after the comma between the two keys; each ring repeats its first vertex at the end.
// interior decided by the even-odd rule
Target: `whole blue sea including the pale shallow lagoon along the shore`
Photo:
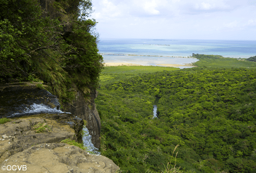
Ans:
{"type": "Polygon", "coordinates": [[[193,53],[231,58],[256,55],[256,41],[239,40],[101,39],[98,48],[104,62],[136,62],[142,65],[188,64],[198,61],[184,58],[193,53]]]}

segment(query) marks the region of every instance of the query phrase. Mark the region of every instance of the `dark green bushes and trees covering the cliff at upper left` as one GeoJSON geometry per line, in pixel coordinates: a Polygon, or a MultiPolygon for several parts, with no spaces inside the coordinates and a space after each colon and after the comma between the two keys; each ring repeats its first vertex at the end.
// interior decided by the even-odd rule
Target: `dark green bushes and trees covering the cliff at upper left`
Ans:
{"type": "Polygon", "coordinates": [[[0,1],[0,82],[45,82],[64,102],[74,84],[89,95],[103,67],[91,12],[91,0],[0,1]]]}

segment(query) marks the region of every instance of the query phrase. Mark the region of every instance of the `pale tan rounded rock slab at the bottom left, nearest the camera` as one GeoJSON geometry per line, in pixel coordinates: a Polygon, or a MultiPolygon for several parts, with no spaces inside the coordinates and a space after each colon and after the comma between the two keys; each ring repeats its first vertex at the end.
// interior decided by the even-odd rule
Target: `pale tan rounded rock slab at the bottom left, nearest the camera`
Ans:
{"type": "MultiPolygon", "coordinates": [[[[83,149],[62,143],[39,144],[16,153],[6,159],[2,168],[26,166],[26,172],[94,172],[114,173],[118,166],[105,156],[92,155],[83,149]]],[[[16,169],[16,167],[14,167],[16,169]]],[[[22,168],[21,168],[22,170],[22,168]]],[[[18,167],[16,171],[18,172],[18,167]]],[[[4,172],[4,171],[3,171],[4,172]]],[[[8,171],[9,172],[9,171],[8,171]]]]}

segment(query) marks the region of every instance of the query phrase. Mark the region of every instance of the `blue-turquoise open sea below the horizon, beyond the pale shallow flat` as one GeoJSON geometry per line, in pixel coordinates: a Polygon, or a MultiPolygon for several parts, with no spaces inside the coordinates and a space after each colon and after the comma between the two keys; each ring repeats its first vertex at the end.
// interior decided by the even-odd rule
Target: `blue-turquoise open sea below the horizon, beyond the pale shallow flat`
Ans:
{"type": "Polygon", "coordinates": [[[237,40],[145,40],[105,39],[98,44],[102,54],[189,56],[194,54],[248,58],[256,55],[256,41],[237,40]]]}

